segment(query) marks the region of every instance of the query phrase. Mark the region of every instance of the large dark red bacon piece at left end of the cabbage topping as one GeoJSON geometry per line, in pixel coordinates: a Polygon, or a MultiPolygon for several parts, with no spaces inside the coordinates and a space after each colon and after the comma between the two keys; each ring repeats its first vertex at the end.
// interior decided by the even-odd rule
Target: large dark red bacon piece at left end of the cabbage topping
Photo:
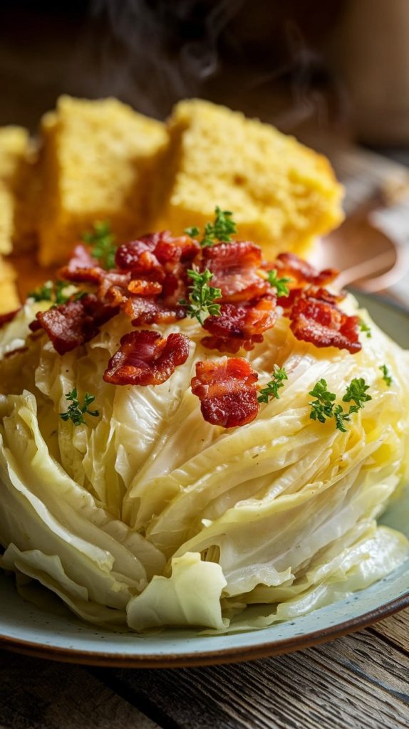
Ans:
{"type": "Polygon", "coordinates": [[[68,301],[52,306],[48,311],[39,311],[36,313],[37,321],[31,322],[30,329],[36,332],[42,327],[58,354],[66,354],[93,339],[99,327],[118,311],[118,308],[101,303],[96,295],[88,294],[78,301],[68,301]]]}

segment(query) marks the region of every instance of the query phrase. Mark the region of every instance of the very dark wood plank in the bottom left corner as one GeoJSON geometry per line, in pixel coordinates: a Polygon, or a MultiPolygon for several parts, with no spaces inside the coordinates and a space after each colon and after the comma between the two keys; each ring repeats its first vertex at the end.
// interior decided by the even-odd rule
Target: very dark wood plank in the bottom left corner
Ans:
{"type": "Polygon", "coordinates": [[[85,668],[0,652],[0,729],[158,729],[85,668]]]}

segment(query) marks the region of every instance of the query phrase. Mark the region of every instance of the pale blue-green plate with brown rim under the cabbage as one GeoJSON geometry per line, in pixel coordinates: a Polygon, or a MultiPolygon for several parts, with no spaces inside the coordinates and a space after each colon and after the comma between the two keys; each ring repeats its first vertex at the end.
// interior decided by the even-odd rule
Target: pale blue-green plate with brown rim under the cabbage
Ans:
{"type": "MultiPolygon", "coordinates": [[[[379,297],[358,295],[401,346],[409,348],[409,314],[379,297]]],[[[409,537],[409,489],[392,502],[381,523],[409,537]]],[[[409,606],[409,560],[370,588],[292,622],[241,634],[200,636],[197,631],[113,633],[77,620],[68,611],[45,612],[23,601],[14,581],[0,574],[0,647],[41,658],[98,666],[175,668],[253,660],[299,650],[350,633],[409,606]]]]}

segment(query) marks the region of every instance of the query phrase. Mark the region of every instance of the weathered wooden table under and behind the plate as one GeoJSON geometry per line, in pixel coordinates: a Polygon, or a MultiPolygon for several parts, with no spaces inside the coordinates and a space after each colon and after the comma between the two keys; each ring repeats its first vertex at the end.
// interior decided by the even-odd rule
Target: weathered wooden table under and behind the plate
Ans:
{"type": "MultiPolygon", "coordinates": [[[[348,161],[341,152],[338,162],[348,205],[404,173],[365,154],[348,161]]],[[[389,211],[385,223],[409,246],[409,206],[389,211]]],[[[409,276],[389,294],[409,306],[409,276]]],[[[0,729],[407,729],[409,609],[252,663],[120,670],[0,652],[0,671],[0,729]]]]}

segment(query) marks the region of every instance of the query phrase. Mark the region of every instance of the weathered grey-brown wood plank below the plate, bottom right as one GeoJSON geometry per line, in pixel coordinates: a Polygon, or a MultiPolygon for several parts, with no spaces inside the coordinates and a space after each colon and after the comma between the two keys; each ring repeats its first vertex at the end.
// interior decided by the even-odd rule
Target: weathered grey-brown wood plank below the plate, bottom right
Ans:
{"type": "Polygon", "coordinates": [[[90,671],[138,706],[153,702],[164,725],[180,729],[409,725],[409,656],[369,631],[246,664],[90,671]]]}

